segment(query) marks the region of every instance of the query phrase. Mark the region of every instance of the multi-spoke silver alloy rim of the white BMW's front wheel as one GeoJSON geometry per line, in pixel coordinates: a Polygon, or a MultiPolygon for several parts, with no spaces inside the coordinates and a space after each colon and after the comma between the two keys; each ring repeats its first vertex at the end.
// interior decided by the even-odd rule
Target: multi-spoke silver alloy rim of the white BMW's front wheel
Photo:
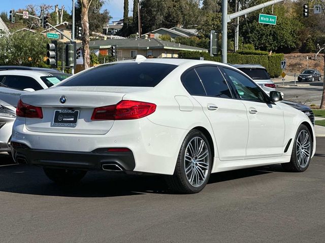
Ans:
{"type": "Polygon", "coordinates": [[[310,136],[306,130],[301,130],[296,141],[296,154],[301,168],[308,166],[311,152],[310,136]]]}

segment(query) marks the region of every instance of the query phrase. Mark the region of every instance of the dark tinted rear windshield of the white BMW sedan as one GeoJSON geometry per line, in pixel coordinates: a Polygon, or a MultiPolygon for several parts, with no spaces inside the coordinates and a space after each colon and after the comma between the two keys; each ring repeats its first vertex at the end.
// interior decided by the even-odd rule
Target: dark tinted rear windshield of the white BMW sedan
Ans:
{"type": "Polygon", "coordinates": [[[114,63],[89,69],[58,86],[155,87],[176,67],[163,63],[114,63]]]}

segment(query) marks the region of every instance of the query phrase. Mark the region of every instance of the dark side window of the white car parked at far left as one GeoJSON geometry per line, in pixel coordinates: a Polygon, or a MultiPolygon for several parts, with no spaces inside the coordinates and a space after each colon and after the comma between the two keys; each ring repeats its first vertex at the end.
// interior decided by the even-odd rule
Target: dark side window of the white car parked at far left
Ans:
{"type": "Polygon", "coordinates": [[[32,77],[20,75],[4,75],[0,82],[9,88],[24,90],[34,89],[41,90],[43,87],[32,77]]]}

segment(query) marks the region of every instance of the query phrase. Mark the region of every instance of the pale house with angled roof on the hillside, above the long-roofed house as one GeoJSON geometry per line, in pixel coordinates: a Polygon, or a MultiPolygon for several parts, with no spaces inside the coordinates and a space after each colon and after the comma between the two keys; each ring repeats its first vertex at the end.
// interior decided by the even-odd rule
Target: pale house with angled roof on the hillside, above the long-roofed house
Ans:
{"type": "Polygon", "coordinates": [[[184,29],[181,27],[173,27],[173,28],[159,28],[148,33],[143,34],[142,36],[152,35],[154,38],[159,38],[160,35],[168,34],[175,39],[176,37],[191,37],[191,36],[198,36],[198,30],[196,29],[184,29]]]}

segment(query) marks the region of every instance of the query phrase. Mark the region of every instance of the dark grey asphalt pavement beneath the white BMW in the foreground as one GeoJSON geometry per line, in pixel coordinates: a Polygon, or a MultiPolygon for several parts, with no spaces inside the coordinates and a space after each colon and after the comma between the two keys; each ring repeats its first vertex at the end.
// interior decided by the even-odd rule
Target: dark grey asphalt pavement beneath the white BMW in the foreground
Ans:
{"type": "MultiPolygon", "coordinates": [[[[58,187],[42,169],[0,167],[1,242],[324,242],[325,138],[304,173],[213,174],[199,194],[159,176],[89,173],[58,187]]],[[[6,164],[9,156],[0,154],[6,164]]]]}

